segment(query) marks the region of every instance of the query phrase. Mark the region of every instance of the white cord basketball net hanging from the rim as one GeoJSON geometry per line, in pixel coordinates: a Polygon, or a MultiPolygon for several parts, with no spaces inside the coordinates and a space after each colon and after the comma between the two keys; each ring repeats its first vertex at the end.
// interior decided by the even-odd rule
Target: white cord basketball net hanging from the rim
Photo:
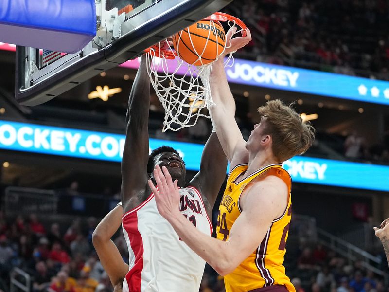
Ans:
{"type": "MultiPolygon", "coordinates": [[[[210,30],[202,52],[197,52],[195,49],[196,46],[190,36],[190,30],[187,28],[191,45],[195,49],[195,54],[198,57],[196,61],[200,61],[201,63],[202,55],[210,41],[209,38],[213,32],[216,32],[215,23],[220,23],[212,19],[207,21],[210,23],[210,30]]],[[[226,23],[228,24],[229,29],[236,26],[235,21],[227,21],[226,23]]],[[[241,33],[242,30],[242,28],[237,29],[234,35],[241,33]]],[[[179,38],[177,40],[178,48],[181,35],[182,31],[179,33],[179,38]]],[[[213,37],[218,36],[216,34],[213,37]]],[[[223,50],[220,50],[219,45],[216,45],[216,56],[220,56],[225,51],[226,47],[230,45],[227,44],[227,42],[228,41],[226,40],[223,50]],[[218,52],[218,50],[220,52],[218,52]]],[[[168,39],[160,42],[157,46],[150,48],[147,53],[151,57],[147,58],[151,84],[165,110],[163,132],[168,129],[177,131],[184,127],[194,126],[199,117],[209,118],[209,112],[206,108],[214,104],[210,88],[212,63],[201,66],[191,65],[177,56],[179,55],[179,52],[177,52],[177,54],[171,54],[174,55],[174,59],[169,59],[166,57],[165,51],[175,52],[171,41],[168,39]]],[[[230,54],[225,61],[225,67],[232,66],[232,63],[233,57],[230,54]]]]}

